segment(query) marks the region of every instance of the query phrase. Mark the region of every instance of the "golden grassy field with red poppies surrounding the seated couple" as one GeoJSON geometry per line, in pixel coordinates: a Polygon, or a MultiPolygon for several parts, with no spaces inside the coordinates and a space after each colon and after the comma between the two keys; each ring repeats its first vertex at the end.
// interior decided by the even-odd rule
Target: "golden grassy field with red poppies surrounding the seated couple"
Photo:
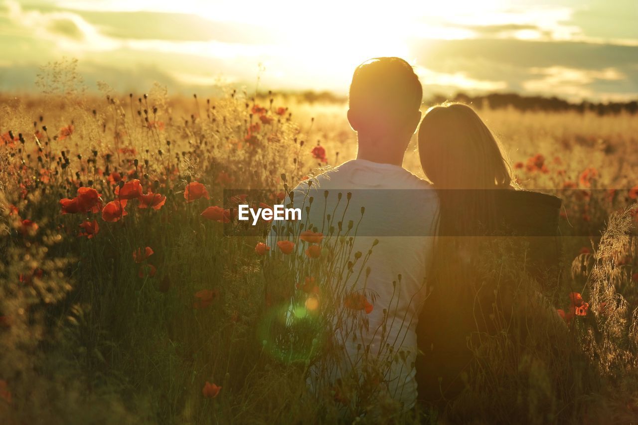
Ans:
{"type": "MultiPolygon", "coordinates": [[[[320,279],[349,268],[348,255],[366,256],[339,238],[343,258],[311,249],[330,237],[299,241],[309,253],[297,259],[285,247],[267,253],[258,245],[267,224],[251,235],[223,205],[224,189],[265,190],[263,202],[276,203],[285,185],[352,159],[346,105],[239,91],[181,98],[159,86],[46,91],[0,96],[1,422],[638,417],[635,116],[479,110],[519,184],[563,198],[563,273],[539,284],[565,334],[560,349],[539,342],[542,313],[523,300],[531,338],[504,328],[477,351],[482,368],[463,399],[400,414],[371,401],[378,379],[306,390],[309,366],[330,356],[315,349],[322,324],[348,315],[363,325],[368,305],[381,308],[374,297],[327,294],[320,279]],[[296,282],[300,270],[316,286],[296,282]],[[291,298],[304,324],[279,320],[291,298]]],[[[422,176],[414,144],[404,167],[422,176]]],[[[494,261],[507,267],[503,258],[494,261]]]]}

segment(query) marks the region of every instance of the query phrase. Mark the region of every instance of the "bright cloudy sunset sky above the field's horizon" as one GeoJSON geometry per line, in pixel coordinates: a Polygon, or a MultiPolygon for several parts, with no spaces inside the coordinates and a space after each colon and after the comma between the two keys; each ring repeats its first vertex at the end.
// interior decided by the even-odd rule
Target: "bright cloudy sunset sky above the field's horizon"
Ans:
{"type": "Polygon", "coordinates": [[[0,91],[37,91],[66,57],[91,90],[346,94],[379,56],[410,62],[426,98],[635,100],[638,0],[0,0],[0,91]]]}

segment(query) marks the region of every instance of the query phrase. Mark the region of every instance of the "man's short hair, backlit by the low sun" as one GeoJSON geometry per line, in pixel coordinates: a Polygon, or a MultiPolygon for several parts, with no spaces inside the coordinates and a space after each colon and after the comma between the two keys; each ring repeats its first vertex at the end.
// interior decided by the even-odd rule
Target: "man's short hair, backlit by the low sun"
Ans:
{"type": "Polygon", "coordinates": [[[375,57],[357,66],[350,84],[350,109],[400,117],[420,108],[423,89],[412,66],[399,57],[375,57]]]}

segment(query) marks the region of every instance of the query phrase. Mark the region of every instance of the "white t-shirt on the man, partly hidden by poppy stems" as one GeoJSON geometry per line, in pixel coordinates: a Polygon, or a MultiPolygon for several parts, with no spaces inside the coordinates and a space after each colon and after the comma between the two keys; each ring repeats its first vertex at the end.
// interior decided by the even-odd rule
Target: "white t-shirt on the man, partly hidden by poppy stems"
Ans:
{"type": "MultiPolygon", "coordinates": [[[[306,214],[305,209],[302,211],[302,221],[308,220],[308,228],[316,227],[318,231],[328,233],[324,211],[328,214],[334,211],[338,192],[343,195],[334,213],[334,227],[341,220],[347,192],[352,193],[352,198],[343,218],[344,231],[349,220],[355,226],[359,223],[352,253],[361,251],[365,256],[373,241],[379,241],[364,265],[364,268],[370,268],[369,276],[366,279],[365,271],[362,272],[356,285],[359,290],[365,285],[366,292],[376,294],[373,311],[367,315],[368,330],[360,334],[359,341],[341,343],[345,344],[351,361],[357,356],[359,344],[362,347],[370,345],[373,354],[387,353],[387,343],[394,347],[394,353],[403,350],[404,354],[399,356],[401,360],[392,363],[384,380],[388,382],[390,396],[403,402],[404,408],[412,408],[417,397],[413,367],[417,355],[415,329],[426,295],[424,279],[433,251],[438,212],[436,191],[431,184],[397,165],[348,161],[318,175],[309,190],[306,182],[295,188],[295,207],[306,193],[314,197],[310,213],[306,214]],[[327,200],[324,198],[326,190],[329,191],[327,200]],[[327,204],[326,208],[324,204],[327,204]],[[363,217],[362,206],[365,207],[363,217]],[[393,281],[397,281],[396,286],[393,281]],[[387,309],[388,314],[385,333],[380,329],[383,309],[387,309]]],[[[335,378],[341,373],[344,371],[338,372],[335,378]]]]}

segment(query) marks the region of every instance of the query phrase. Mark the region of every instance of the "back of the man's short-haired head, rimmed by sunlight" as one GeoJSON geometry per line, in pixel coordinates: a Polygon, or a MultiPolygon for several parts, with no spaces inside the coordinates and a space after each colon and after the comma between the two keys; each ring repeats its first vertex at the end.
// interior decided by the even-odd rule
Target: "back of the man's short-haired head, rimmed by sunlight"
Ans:
{"type": "Polygon", "coordinates": [[[422,97],[410,64],[399,57],[376,57],[357,66],[352,76],[348,121],[359,140],[394,140],[405,150],[421,118],[422,97]]]}

